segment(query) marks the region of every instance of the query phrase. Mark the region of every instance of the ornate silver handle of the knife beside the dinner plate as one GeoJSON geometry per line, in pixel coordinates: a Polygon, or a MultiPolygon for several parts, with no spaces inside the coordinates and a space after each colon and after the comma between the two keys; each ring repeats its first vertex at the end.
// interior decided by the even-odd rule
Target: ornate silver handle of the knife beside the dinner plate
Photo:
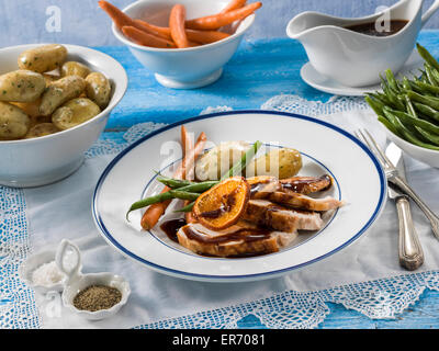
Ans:
{"type": "Polygon", "coordinates": [[[396,199],[399,219],[399,264],[409,271],[424,263],[424,251],[412,219],[410,202],[403,195],[396,199]]]}

